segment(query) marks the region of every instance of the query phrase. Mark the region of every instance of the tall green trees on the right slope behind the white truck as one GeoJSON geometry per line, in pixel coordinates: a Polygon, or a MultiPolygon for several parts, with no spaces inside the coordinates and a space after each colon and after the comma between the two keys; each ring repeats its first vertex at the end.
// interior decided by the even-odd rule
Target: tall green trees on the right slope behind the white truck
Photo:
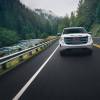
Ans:
{"type": "Polygon", "coordinates": [[[62,23],[67,26],[81,26],[92,32],[93,36],[100,36],[100,2],[99,0],[80,0],[76,12],[70,18],[66,16],[62,23]]]}

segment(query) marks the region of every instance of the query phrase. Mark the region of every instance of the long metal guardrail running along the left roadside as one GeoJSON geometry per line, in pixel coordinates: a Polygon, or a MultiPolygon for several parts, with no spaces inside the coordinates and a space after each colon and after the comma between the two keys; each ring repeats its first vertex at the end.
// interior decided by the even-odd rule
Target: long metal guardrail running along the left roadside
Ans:
{"type": "Polygon", "coordinates": [[[49,41],[46,41],[46,42],[41,43],[41,44],[38,44],[37,46],[22,50],[20,52],[16,52],[14,54],[11,54],[11,55],[8,55],[8,56],[4,56],[4,57],[0,58],[0,67],[3,67],[2,65],[4,65],[5,63],[7,63],[7,62],[9,62],[11,60],[14,60],[14,59],[16,59],[18,57],[21,57],[24,54],[31,53],[33,50],[38,49],[39,47],[43,47],[45,45],[49,45],[50,43],[52,43],[53,41],[56,41],[56,40],[57,40],[57,38],[49,40],[49,41]]]}

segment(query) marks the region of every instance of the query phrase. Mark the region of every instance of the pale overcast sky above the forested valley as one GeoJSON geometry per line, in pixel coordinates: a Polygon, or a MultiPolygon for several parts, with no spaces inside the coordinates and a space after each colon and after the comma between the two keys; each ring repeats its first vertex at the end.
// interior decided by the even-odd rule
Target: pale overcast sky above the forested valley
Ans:
{"type": "Polygon", "coordinates": [[[76,11],[79,0],[20,0],[29,8],[52,10],[58,16],[70,15],[76,11]]]}

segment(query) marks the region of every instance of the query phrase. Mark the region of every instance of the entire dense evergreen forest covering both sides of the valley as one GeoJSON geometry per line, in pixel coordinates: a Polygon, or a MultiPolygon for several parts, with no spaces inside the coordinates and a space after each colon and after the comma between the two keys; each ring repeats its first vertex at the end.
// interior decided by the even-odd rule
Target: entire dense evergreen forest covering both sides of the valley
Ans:
{"type": "Polygon", "coordinates": [[[32,11],[20,0],[0,0],[0,47],[22,39],[45,38],[70,26],[83,26],[94,36],[100,36],[99,0],[80,0],[70,17],[57,17],[42,9],[32,11]]]}

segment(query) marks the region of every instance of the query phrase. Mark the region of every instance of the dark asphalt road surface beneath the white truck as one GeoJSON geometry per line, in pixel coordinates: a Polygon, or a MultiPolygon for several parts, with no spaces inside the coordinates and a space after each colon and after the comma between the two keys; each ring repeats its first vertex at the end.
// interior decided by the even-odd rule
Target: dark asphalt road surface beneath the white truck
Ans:
{"type": "MultiPolygon", "coordinates": [[[[94,42],[100,44],[100,38],[94,42]]],[[[0,77],[0,100],[12,100],[57,46],[0,77]]],[[[58,48],[19,100],[100,100],[100,48],[92,56],[64,57],[58,48]]]]}

